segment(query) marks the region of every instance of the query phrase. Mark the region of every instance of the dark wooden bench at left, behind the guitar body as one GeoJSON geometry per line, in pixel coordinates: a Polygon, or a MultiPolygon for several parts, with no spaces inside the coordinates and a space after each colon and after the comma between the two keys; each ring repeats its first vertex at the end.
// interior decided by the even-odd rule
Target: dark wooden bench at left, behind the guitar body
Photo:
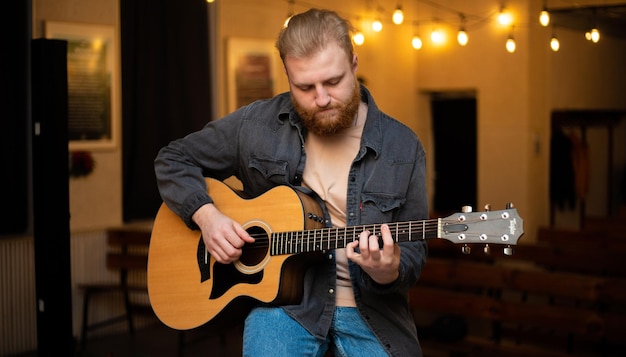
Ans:
{"type": "Polygon", "coordinates": [[[148,247],[151,231],[143,226],[120,227],[107,231],[106,268],[118,273],[118,281],[80,283],[78,288],[83,292],[83,316],[80,344],[84,350],[87,334],[112,324],[125,322],[130,334],[134,334],[134,314],[152,314],[152,308],[144,301],[133,299],[133,295],[147,296],[145,279],[141,282],[129,280],[132,272],[145,274],[148,262],[148,247]],[[124,312],[102,321],[90,322],[89,311],[92,299],[100,294],[117,294],[124,305],[124,312]]]}

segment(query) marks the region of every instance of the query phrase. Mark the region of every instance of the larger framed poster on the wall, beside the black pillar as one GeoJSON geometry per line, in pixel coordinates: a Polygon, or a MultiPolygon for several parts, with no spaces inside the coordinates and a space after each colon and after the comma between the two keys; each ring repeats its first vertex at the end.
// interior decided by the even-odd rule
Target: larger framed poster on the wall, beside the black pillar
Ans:
{"type": "Polygon", "coordinates": [[[70,150],[114,149],[121,112],[115,28],[47,21],[45,32],[67,41],[70,150]]]}

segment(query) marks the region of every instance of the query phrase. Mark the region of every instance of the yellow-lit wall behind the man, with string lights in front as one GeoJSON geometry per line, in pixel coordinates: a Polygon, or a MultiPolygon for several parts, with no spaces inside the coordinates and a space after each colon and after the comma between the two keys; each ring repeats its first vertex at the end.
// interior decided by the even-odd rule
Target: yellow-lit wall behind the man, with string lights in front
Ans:
{"type": "MultiPolygon", "coordinates": [[[[612,1],[588,0],[585,4],[612,1]]],[[[618,3],[619,1],[615,1],[618,3]]],[[[367,80],[378,105],[405,122],[432,145],[428,93],[432,91],[474,90],[478,99],[478,202],[500,209],[513,202],[525,218],[529,240],[539,225],[548,223],[549,118],[552,109],[626,109],[626,86],[621,64],[626,63],[624,40],[604,37],[591,46],[573,31],[559,31],[561,51],[548,48],[550,29],[537,24],[539,1],[507,1],[517,25],[514,36],[517,51],[509,54],[504,41],[509,29],[498,27],[493,19],[468,28],[466,47],[456,43],[434,48],[426,40],[432,19],[448,24],[449,35],[458,27],[458,15],[444,7],[487,18],[495,15],[500,1],[439,0],[404,1],[405,25],[385,20],[381,33],[367,30],[372,16],[380,14],[377,5],[389,14],[395,2],[320,0],[319,7],[338,11],[363,30],[366,42],[357,48],[359,74],[367,80]],[[392,4],[393,3],[393,4],[392,4]],[[417,14],[417,15],[416,15],[417,14]],[[415,51],[410,38],[419,20],[418,31],[424,48],[415,51]],[[595,68],[593,68],[595,67],[595,68]],[[593,69],[590,69],[593,68],[593,69]]],[[[294,10],[306,9],[308,2],[296,1],[294,10]]],[[[555,0],[551,6],[570,6],[555,0]]],[[[219,19],[216,40],[216,103],[218,116],[227,112],[227,39],[255,38],[273,41],[289,7],[279,0],[217,0],[212,6],[219,19]]],[[[111,24],[119,30],[119,6],[114,0],[33,0],[35,37],[43,32],[42,21],[71,21],[111,24]]],[[[280,65],[277,88],[287,84],[280,65]]],[[[432,159],[429,150],[429,164],[432,159]]],[[[463,153],[459,153],[460,159],[463,153]]],[[[73,231],[121,223],[121,148],[94,152],[97,167],[84,179],[70,184],[73,231]]],[[[621,160],[624,160],[621,158],[621,160]]],[[[431,171],[432,175],[432,171],[431,171]]],[[[463,180],[463,173],[459,173],[463,180]]],[[[430,177],[432,182],[432,177],[430,177]]],[[[479,207],[477,207],[478,209],[479,207]]]]}

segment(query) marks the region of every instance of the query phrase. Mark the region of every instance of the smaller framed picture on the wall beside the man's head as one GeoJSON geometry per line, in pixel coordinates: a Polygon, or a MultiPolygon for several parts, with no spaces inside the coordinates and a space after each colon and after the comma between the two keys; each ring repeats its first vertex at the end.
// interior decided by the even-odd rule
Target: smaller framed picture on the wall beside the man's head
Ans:
{"type": "Polygon", "coordinates": [[[280,57],[274,41],[229,38],[226,47],[229,112],[277,93],[276,72],[280,57]]]}

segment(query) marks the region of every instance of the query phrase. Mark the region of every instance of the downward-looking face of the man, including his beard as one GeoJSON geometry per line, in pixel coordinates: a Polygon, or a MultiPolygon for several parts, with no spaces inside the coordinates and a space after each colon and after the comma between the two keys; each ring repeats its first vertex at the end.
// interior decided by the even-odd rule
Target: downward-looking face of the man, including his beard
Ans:
{"type": "Polygon", "coordinates": [[[357,58],[348,59],[335,43],[307,58],[285,58],[291,99],[304,126],[332,135],[354,125],[361,101],[357,58]]]}

